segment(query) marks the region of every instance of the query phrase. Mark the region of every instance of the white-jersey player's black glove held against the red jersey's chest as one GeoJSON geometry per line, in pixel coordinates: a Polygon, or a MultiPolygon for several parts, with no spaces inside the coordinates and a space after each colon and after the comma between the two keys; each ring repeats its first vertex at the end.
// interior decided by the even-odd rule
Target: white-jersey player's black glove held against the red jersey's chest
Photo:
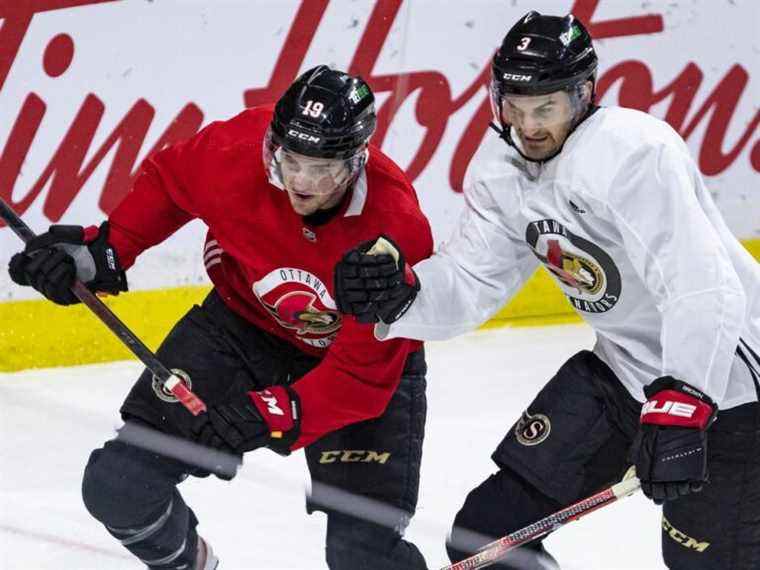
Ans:
{"type": "Polygon", "coordinates": [[[414,302],[420,283],[388,237],[365,241],[335,266],[335,301],[361,323],[397,321],[414,302]]]}

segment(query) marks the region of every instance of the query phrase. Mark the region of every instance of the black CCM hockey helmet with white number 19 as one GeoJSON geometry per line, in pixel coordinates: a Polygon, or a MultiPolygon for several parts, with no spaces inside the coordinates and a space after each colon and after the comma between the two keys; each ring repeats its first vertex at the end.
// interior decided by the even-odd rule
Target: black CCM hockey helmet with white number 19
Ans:
{"type": "Polygon", "coordinates": [[[360,77],[318,65],[303,73],[275,107],[272,142],[315,158],[346,159],[375,131],[375,96],[360,77]]]}

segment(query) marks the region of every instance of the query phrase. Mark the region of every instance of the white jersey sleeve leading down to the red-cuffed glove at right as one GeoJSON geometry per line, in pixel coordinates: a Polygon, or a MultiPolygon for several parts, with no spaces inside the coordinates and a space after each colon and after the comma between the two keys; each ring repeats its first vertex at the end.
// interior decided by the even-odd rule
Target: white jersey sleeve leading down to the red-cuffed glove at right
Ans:
{"type": "Polygon", "coordinates": [[[697,199],[699,176],[685,145],[642,149],[613,180],[610,207],[662,316],[661,375],[688,382],[720,404],[746,299],[697,199]]]}

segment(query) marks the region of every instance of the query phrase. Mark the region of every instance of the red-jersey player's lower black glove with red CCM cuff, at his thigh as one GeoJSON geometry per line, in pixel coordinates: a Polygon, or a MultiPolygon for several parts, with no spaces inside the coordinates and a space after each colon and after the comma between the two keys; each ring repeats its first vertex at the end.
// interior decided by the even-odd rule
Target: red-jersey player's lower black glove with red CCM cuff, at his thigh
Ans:
{"type": "Polygon", "coordinates": [[[269,447],[288,455],[301,432],[298,395],[288,386],[241,392],[211,406],[196,418],[195,439],[201,445],[242,455],[269,447]]]}

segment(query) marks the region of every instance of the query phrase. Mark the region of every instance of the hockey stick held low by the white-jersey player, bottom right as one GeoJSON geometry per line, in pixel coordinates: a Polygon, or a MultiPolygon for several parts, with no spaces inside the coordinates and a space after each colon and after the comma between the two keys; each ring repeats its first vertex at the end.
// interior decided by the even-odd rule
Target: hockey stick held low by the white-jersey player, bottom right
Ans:
{"type": "Polygon", "coordinates": [[[477,554],[449,566],[444,566],[441,570],[474,570],[490,566],[497,560],[500,560],[510,550],[546,536],[561,526],[610,505],[618,499],[632,495],[641,488],[641,482],[635,473],[634,468],[631,467],[625,477],[612,487],[578,501],[561,511],[557,511],[525,528],[516,530],[490,544],[486,544],[477,554]]]}

